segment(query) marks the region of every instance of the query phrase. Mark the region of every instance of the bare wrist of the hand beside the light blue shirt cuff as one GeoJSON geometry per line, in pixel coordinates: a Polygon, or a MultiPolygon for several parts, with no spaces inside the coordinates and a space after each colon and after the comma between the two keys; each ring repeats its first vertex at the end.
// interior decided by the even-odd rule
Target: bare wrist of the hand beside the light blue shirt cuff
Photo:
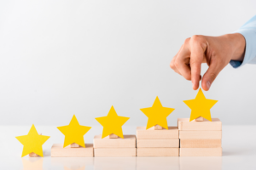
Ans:
{"type": "Polygon", "coordinates": [[[244,59],[246,40],[240,33],[227,34],[233,54],[232,60],[242,61],[244,59]]]}

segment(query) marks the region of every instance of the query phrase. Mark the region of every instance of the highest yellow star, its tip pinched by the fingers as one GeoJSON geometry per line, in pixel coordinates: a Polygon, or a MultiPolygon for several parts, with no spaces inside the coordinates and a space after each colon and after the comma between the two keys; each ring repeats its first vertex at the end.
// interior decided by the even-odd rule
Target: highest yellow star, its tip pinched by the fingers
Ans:
{"type": "Polygon", "coordinates": [[[189,99],[183,102],[192,110],[190,122],[200,116],[212,122],[210,109],[218,102],[218,100],[206,99],[205,95],[201,91],[201,88],[199,89],[195,99],[189,99]]]}

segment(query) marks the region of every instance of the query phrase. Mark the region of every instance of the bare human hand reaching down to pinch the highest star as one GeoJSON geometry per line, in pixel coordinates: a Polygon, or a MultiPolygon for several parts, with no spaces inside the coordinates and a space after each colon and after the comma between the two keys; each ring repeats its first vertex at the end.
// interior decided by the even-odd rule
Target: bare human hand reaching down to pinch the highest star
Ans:
{"type": "Polygon", "coordinates": [[[207,91],[231,59],[243,60],[245,46],[245,38],[240,33],[219,37],[196,35],[185,40],[170,66],[185,79],[191,80],[194,90],[199,88],[201,81],[201,87],[207,91]],[[209,67],[201,80],[202,63],[207,63],[209,67]]]}

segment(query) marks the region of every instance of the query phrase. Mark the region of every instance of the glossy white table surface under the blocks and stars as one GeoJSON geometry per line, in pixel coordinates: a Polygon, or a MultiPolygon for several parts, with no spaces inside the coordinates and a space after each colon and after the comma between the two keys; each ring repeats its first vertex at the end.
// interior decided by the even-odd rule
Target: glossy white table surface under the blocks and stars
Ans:
{"type": "MultiPolygon", "coordinates": [[[[57,126],[37,126],[38,133],[50,136],[43,145],[44,157],[21,158],[22,144],[15,136],[28,133],[30,126],[0,126],[0,169],[172,169],[220,170],[256,169],[256,126],[223,126],[223,156],[221,157],[50,157],[52,144],[61,144],[64,135],[57,126]]],[[[136,134],[136,127],[124,126],[124,134],[136,134]]],[[[92,127],[85,134],[85,143],[102,133],[102,127],[92,127]]]]}

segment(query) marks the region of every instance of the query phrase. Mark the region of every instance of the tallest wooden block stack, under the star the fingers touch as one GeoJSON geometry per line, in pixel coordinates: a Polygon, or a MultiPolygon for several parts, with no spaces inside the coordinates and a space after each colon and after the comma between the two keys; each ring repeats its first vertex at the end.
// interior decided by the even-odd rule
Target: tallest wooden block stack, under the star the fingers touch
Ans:
{"type": "Polygon", "coordinates": [[[177,127],[180,156],[222,156],[222,123],[218,118],[212,118],[212,122],[179,118],[177,127]]]}

